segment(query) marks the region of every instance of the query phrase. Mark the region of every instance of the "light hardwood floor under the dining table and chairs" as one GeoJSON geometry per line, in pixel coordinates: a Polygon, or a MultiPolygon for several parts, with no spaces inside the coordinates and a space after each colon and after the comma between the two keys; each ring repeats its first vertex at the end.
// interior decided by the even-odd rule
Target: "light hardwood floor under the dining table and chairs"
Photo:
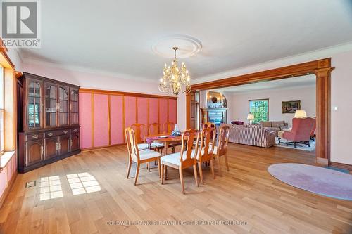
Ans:
{"type": "Polygon", "coordinates": [[[192,169],[185,170],[183,195],[178,171],[171,168],[161,185],[157,169],[147,172],[144,166],[134,186],[135,164],[132,178],[125,178],[126,146],[82,152],[19,174],[0,211],[0,233],[352,233],[352,202],[288,186],[266,170],[277,162],[314,164],[313,153],[230,144],[228,157],[230,172],[222,158],[223,176],[217,164],[215,179],[203,169],[198,188],[192,169]],[[25,188],[34,180],[37,186],[25,188]],[[109,223],[142,220],[245,223],[109,223]]]}

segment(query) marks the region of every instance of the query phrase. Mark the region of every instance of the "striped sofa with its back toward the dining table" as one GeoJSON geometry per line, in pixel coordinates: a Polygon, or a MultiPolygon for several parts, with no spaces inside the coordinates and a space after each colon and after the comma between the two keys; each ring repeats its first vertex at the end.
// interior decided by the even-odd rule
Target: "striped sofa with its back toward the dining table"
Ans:
{"type": "Polygon", "coordinates": [[[275,131],[265,129],[261,125],[225,125],[230,126],[229,142],[263,148],[275,145],[275,131]]]}

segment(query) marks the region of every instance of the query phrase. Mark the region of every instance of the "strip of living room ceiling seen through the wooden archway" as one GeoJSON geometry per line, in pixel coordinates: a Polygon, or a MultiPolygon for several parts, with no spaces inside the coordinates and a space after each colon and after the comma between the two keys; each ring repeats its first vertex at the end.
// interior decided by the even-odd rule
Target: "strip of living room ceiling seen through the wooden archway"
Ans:
{"type": "Polygon", "coordinates": [[[293,77],[287,79],[277,79],[270,82],[258,82],[253,84],[244,84],[239,86],[232,86],[222,89],[214,89],[213,91],[230,92],[230,93],[248,93],[263,91],[269,89],[294,89],[308,86],[315,86],[315,75],[308,74],[302,77],[293,77]]]}

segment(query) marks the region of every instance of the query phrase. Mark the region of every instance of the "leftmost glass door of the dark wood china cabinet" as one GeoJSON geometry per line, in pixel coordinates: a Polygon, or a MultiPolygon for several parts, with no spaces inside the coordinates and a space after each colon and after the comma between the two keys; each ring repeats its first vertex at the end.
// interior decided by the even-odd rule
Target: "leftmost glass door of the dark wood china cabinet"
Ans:
{"type": "Polygon", "coordinates": [[[28,129],[38,129],[42,125],[42,82],[28,79],[27,86],[27,115],[28,129]]]}

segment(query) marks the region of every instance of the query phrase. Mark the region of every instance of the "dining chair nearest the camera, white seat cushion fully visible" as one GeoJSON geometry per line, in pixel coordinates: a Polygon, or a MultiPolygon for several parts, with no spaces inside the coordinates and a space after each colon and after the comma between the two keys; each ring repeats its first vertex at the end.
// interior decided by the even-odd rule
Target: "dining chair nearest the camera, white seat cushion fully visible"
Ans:
{"type": "Polygon", "coordinates": [[[198,153],[199,131],[189,129],[182,134],[181,152],[175,152],[161,157],[161,184],[164,183],[164,176],[167,176],[167,167],[179,170],[182,193],[184,194],[183,169],[193,167],[196,186],[198,185],[196,156],[198,153]],[[196,141],[196,149],[192,150],[192,145],[196,141]],[[165,171],[165,173],[164,173],[165,171]]]}

